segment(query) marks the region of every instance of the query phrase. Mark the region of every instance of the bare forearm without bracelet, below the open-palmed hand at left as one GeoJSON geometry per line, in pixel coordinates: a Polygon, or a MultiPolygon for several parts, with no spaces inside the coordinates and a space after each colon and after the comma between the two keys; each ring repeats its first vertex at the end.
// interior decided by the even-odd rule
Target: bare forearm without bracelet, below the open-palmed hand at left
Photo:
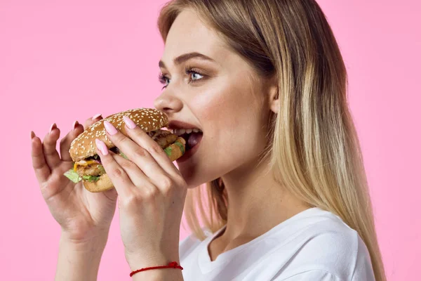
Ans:
{"type": "Polygon", "coordinates": [[[62,235],[55,280],[97,280],[105,244],[107,236],[86,242],[74,242],[62,235]]]}

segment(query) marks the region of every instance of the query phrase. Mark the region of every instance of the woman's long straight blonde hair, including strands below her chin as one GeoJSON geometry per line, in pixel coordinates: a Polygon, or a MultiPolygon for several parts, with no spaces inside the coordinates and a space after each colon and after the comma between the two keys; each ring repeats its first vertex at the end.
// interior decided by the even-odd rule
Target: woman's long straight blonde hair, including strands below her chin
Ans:
{"type": "MultiPolygon", "coordinates": [[[[281,106],[272,115],[265,153],[276,180],[356,230],[376,280],[386,280],[359,138],[347,105],[347,71],[319,5],[314,0],[175,0],[159,15],[163,41],[185,8],[223,34],[259,77],[276,77],[281,106]]],[[[185,204],[187,224],[201,240],[199,218],[213,232],[227,223],[220,178],[206,183],[207,202],[202,189],[189,190],[185,204]]]]}

